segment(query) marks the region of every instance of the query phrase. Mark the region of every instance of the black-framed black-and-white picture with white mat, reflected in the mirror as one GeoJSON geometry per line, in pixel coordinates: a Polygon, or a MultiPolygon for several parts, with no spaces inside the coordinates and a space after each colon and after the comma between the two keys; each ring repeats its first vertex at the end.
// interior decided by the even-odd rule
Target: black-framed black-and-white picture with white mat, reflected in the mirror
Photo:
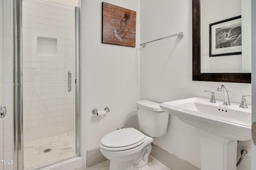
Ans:
{"type": "Polygon", "coordinates": [[[210,57],[242,54],[242,22],[236,16],[209,24],[210,57]]]}

